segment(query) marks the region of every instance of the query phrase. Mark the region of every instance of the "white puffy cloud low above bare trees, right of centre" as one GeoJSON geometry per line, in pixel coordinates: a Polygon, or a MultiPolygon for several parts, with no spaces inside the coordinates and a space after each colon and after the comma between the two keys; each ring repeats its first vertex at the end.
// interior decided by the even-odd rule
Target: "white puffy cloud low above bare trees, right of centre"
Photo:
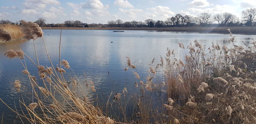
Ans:
{"type": "Polygon", "coordinates": [[[166,6],[156,6],[149,9],[153,10],[153,14],[151,15],[152,17],[159,17],[161,19],[171,17],[172,15],[175,14],[173,11],[170,10],[169,7],[166,7],[166,6]]]}

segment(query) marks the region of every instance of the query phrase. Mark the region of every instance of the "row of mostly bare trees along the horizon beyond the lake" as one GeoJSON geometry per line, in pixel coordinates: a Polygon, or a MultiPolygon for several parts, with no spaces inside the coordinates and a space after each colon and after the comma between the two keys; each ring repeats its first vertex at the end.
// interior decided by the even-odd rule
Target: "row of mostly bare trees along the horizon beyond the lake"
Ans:
{"type": "MultiPolygon", "coordinates": [[[[196,17],[190,15],[176,14],[173,17],[169,17],[166,20],[152,20],[147,19],[145,21],[126,21],[111,20],[107,24],[87,24],[82,23],[79,20],[67,20],[61,24],[46,24],[46,20],[39,18],[35,21],[40,27],[188,27],[188,26],[256,26],[256,8],[247,8],[241,12],[242,17],[239,20],[236,15],[231,13],[222,14],[209,14],[201,13],[196,17]]],[[[9,20],[0,20],[1,24],[18,24],[9,20]]]]}

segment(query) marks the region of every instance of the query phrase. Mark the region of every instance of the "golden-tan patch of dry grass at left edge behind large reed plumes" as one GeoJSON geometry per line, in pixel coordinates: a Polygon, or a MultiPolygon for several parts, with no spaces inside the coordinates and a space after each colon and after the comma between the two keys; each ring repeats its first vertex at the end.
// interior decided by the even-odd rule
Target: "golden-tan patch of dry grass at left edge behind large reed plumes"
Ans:
{"type": "Polygon", "coordinates": [[[21,31],[19,25],[4,24],[0,25],[0,28],[5,30],[11,36],[12,40],[19,39],[25,36],[21,31]]]}

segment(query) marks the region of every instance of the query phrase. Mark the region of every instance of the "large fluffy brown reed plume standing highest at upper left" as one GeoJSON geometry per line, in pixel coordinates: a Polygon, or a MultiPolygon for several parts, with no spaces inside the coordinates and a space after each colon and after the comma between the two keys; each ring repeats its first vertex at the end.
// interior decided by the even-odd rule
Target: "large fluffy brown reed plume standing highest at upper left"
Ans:
{"type": "Polygon", "coordinates": [[[44,32],[42,29],[39,27],[38,24],[33,23],[33,22],[26,22],[24,20],[20,21],[21,23],[21,30],[23,34],[25,34],[24,39],[29,40],[29,39],[37,39],[39,37],[43,37],[44,32]]]}

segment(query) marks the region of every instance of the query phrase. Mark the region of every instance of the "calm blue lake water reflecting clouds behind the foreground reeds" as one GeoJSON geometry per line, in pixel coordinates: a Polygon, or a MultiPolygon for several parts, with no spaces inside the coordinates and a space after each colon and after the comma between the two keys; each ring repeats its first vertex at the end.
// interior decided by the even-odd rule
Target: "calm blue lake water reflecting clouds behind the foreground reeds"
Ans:
{"type": "MultiPolygon", "coordinates": [[[[43,30],[44,40],[53,65],[58,64],[58,45],[60,30],[43,30]]],[[[241,45],[244,41],[249,44],[256,35],[236,36],[236,44],[241,45]]],[[[70,63],[71,68],[81,80],[90,79],[94,82],[96,92],[102,95],[102,101],[114,91],[122,92],[123,87],[129,90],[134,87],[133,70],[124,71],[127,67],[128,56],[132,64],[137,66],[137,72],[142,79],[148,75],[148,68],[153,58],[156,63],[160,62],[160,56],[166,55],[167,48],[179,53],[178,43],[182,42],[185,47],[198,40],[202,45],[229,45],[230,35],[227,34],[198,34],[164,31],[125,31],[113,32],[113,30],[62,30],[61,37],[61,59],[70,63]],[[84,76],[86,73],[86,77],[84,76]]],[[[32,41],[17,41],[17,45],[33,60],[35,51],[32,41]]],[[[48,65],[49,60],[44,50],[42,39],[35,40],[40,65],[48,65]]],[[[21,73],[24,68],[18,59],[7,59],[4,53],[9,50],[18,50],[13,43],[0,44],[0,98],[14,108],[18,104],[20,93],[13,87],[13,82],[19,79],[26,87],[30,83],[27,77],[21,73]]],[[[177,54],[179,56],[179,54],[177,54]]],[[[182,57],[182,56],[181,56],[182,57]]],[[[38,75],[38,70],[28,59],[27,67],[32,75],[38,75]]],[[[21,91],[23,92],[23,91],[21,91]]],[[[25,92],[25,91],[24,91],[25,92]]],[[[24,94],[29,97],[29,94],[24,94]]],[[[29,104],[29,100],[28,100],[29,104]]],[[[0,116],[6,124],[13,123],[16,114],[9,110],[6,105],[0,103],[0,116]]],[[[20,121],[16,121],[20,123],[20,121]]]]}

